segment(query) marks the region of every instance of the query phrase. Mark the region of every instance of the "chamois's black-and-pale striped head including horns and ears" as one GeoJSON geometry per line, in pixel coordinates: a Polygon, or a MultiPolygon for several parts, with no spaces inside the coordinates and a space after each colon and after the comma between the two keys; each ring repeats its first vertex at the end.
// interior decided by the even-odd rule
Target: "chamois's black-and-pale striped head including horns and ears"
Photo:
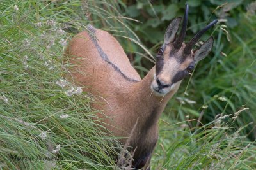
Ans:
{"type": "Polygon", "coordinates": [[[197,32],[186,45],[183,43],[188,24],[188,4],[183,18],[183,24],[179,36],[176,38],[181,17],[174,18],[164,34],[164,44],[156,54],[156,72],[151,83],[151,89],[157,96],[168,94],[179,81],[192,73],[196,62],[204,59],[211,51],[213,45],[212,36],[198,49],[192,52],[193,46],[207,29],[216,24],[214,20],[204,29],[197,32]]]}

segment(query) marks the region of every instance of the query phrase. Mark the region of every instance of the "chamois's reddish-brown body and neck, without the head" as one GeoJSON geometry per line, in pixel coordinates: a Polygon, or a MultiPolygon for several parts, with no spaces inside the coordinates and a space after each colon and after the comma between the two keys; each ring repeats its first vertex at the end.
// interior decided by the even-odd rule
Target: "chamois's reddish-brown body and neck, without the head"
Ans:
{"type": "MultiPolygon", "coordinates": [[[[66,54],[77,64],[72,76],[93,94],[93,108],[104,113],[98,116],[109,117],[103,119],[109,131],[119,137],[130,136],[128,145],[136,148],[134,162],[140,168],[156,145],[159,115],[179,85],[164,97],[155,96],[150,88],[155,67],[141,80],[118,41],[106,31],[92,29],[92,35],[87,31],[77,34],[67,48],[66,54]],[[109,62],[102,59],[97,45],[109,62]]],[[[123,145],[127,138],[120,139],[123,145]]]]}

